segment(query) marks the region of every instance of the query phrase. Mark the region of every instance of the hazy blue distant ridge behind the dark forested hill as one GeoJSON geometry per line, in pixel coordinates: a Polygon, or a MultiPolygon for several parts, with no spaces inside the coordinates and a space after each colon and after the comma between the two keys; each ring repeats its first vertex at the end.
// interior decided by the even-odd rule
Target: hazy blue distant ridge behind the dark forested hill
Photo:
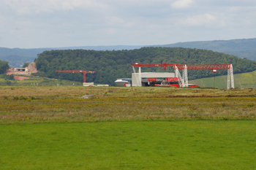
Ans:
{"type": "Polygon", "coordinates": [[[53,47],[53,48],[5,48],[0,47],[0,60],[8,61],[11,66],[20,66],[26,62],[33,62],[39,53],[45,50],[134,50],[141,47],[185,47],[203,50],[213,50],[219,53],[235,55],[256,61],[256,39],[232,39],[200,42],[178,42],[170,45],[112,45],[112,46],[81,46],[81,47],[53,47]]]}

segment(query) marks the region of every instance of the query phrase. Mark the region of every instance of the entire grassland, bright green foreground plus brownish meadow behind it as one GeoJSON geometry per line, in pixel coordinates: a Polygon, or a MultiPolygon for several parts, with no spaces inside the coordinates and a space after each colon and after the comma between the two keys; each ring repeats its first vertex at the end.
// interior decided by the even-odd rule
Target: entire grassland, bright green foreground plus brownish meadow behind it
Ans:
{"type": "Polygon", "coordinates": [[[254,89],[0,86],[0,169],[256,169],[255,107],[254,89]]]}

